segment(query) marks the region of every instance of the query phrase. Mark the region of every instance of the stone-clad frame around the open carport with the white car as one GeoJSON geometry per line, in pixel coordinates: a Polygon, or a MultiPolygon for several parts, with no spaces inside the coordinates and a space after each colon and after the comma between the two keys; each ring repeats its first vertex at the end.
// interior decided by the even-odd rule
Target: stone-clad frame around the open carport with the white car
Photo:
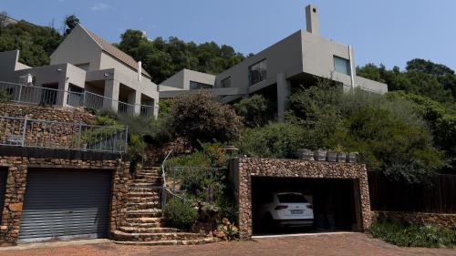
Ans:
{"type": "Polygon", "coordinates": [[[252,176],[277,178],[357,179],[362,229],[371,224],[368,174],[365,165],[295,159],[235,159],[232,177],[239,205],[241,239],[252,236],[252,176]]]}

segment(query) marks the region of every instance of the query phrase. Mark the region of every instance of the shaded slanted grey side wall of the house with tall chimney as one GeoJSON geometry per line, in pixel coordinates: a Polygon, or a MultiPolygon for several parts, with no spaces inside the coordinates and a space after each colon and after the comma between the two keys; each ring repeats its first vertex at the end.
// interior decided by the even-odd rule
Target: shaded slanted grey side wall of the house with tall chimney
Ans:
{"type": "Polygon", "coordinates": [[[270,46],[240,64],[223,71],[215,78],[215,87],[221,87],[222,80],[231,77],[232,87],[249,88],[249,67],[266,59],[266,80],[250,87],[249,90],[252,92],[255,87],[275,84],[275,77],[280,73],[284,73],[286,77],[302,73],[302,57],[301,31],[298,31],[274,46],[270,46]]]}

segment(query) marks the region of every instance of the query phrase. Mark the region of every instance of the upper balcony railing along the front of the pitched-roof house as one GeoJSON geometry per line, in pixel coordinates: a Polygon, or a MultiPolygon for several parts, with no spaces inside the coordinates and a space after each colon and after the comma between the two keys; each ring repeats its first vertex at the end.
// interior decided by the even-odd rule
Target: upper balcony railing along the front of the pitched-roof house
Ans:
{"type": "Polygon", "coordinates": [[[92,92],[74,92],[48,87],[34,87],[0,82],[0,101],[11,101],[32,105],[70,106],[93,109],[117,109],[118,113],[151,117],[157,110],[150,105],[133,105],[92,92]],[[65,104],[64,104],[65,103],[65,104]]]}

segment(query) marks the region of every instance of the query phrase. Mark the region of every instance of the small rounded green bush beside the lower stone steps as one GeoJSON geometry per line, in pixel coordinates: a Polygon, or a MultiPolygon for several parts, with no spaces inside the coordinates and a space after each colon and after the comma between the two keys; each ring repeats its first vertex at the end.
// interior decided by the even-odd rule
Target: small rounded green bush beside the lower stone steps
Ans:
{"type": "Polygon", "coordinates": [[[173,199],[165,206],[164,220],[173,228],[190,230],[198,220],[198,210],[192,200],[173,199]]]}

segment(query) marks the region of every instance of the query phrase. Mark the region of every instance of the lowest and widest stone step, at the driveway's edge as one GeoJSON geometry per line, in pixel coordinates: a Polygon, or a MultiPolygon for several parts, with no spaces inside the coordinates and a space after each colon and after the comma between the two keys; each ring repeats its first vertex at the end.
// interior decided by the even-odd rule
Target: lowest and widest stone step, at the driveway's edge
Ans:
{"type": "Polygon", "coordinates": [[[171,241],[171,240],[201,240],[205,236],[197,233],[170,232],[170,233],[126,233],[120,230],[113,232],[115,241],[171,241]]]}

